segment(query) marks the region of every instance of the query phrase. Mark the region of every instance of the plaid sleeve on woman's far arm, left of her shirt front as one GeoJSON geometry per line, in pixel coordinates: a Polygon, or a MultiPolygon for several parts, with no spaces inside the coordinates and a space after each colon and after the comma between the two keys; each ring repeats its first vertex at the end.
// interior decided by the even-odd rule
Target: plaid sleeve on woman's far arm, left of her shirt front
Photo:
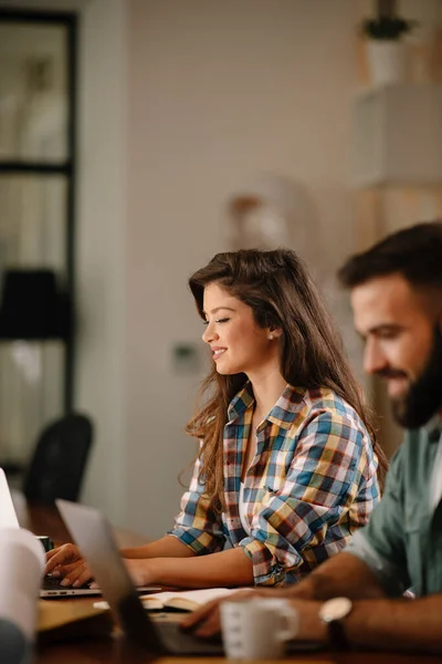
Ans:
{"type": "Polygon", "coordinates": [[[168,535],[179,539],[197,554],[215,553],[223,548],[225,537],[221,515],[214,509],[213,500],[207,495],[206,485],[199,478],[200,469],[201,459],[198,457],[189,490],[181,497],[181,511],[168,535]]]}

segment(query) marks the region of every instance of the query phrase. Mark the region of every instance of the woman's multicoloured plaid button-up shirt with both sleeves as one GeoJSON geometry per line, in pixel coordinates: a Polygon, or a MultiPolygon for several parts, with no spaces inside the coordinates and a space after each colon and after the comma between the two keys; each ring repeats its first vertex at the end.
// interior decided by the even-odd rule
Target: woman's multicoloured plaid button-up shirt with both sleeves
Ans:
{"type": "Polygon", "coordinates": [[[364,423],[327,387],[287,385],[256,429],[256,456],[244,479],[250,535],[241,525],[241,469],[254,396],[250,383],[232,400],[224,427],[225,512],[199,480],[197,459],[170,531],[196,553],[243,547],[256,584],[293,583],[341,550],[379,500],[377,458],[364,423]]]}

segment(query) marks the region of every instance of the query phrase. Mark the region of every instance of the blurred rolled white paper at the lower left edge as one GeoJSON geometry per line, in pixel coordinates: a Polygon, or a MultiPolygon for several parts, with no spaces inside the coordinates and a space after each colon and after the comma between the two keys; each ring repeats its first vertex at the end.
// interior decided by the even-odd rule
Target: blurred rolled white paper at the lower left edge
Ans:
{"type": "Polygon", "coordinates": [[[0,621],[33,641],[44,571],[41,543],[24,528],[0,528],[0,621]]]}

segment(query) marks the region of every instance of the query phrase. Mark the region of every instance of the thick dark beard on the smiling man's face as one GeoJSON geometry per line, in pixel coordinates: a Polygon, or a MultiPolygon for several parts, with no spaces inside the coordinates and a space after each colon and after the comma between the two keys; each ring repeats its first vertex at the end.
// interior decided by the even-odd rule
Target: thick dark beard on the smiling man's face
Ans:
{"type": "Polygon", "coordinates": [[[442,405],[442,334],[434,330],[434,342],[430,357],[408,393],[391,400],[394,419],[404,428],[423,426],[442,405]]]}

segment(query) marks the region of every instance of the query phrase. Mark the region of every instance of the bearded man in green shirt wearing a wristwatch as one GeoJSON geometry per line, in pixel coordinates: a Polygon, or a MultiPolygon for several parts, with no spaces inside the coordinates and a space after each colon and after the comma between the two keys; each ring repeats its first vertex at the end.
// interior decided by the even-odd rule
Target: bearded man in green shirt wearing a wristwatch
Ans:
{"type": "MultiPolygon", "coordinates": [[[[365,370],[387,381],[394,418],[410,430],[346,551],[296,587],[249,592],[290,600],[299,639],[442,651],[442,222],[389,236],[349,259],[339,279],[351,291],[365,370]]],[[[218,603],[183,626],[217,632],[218,603]]]]}

